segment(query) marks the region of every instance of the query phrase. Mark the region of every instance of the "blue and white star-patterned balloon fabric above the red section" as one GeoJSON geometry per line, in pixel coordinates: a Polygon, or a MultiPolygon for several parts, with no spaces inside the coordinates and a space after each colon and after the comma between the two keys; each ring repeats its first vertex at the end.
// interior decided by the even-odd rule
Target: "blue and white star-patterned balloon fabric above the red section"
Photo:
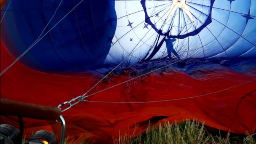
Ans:
{"type": "MultiPolygon", "coordinates": [[[[10,3],[10,2],[9,2],[10,3]]],[[[12,0],[1,40],[47,72],[256,57],[255,0],[12,0]],[[43,33],[42,33],[43,32],[43,33]],[[41,35],[42,34],[42,35],[41,35]]]]}

